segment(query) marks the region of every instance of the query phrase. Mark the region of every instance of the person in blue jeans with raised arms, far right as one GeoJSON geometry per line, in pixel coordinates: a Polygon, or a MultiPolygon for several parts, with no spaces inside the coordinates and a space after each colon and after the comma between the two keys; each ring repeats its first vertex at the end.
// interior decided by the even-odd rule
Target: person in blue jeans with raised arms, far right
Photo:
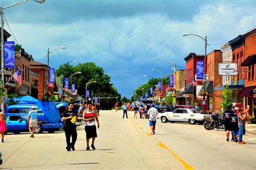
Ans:
{"type": "MultiPolygon", "coordinates": [[[[250,106],[247,105],[247,108],[249,108],[250,106]]],[[[242,140],[242,134],[244,134],[244,130],[245,130],[245,122],[246,122],[246,118],[247,118],[247,113],[244,113],[244,111],[242,111],[242,109],[238,109],[238,128],[239,128],[239,138],[238,138],[238,144],[246,144],[245,141],[242,140]]]]}

